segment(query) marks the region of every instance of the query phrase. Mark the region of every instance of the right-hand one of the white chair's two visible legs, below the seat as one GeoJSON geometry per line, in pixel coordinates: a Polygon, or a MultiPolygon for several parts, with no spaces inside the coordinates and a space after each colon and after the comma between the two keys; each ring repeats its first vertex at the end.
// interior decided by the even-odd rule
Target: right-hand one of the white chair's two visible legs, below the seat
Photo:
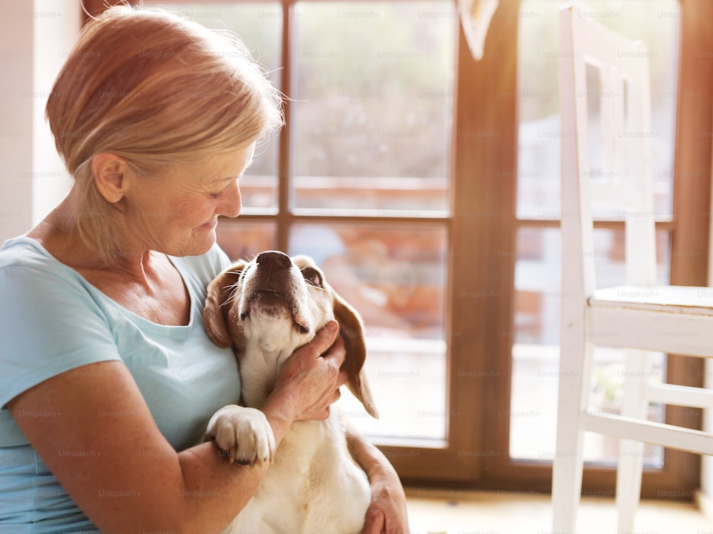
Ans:
{"type": "MultiPolygon", "coordinates": [[[[652,367],[646,351],[627,350],[622,415],[646,419],[649,406],[647,380],[652,367]]],[[[619,532],[633,532],[641,496],[644,443],[622,439],[617,465],[617,511],[619,532]]]]}

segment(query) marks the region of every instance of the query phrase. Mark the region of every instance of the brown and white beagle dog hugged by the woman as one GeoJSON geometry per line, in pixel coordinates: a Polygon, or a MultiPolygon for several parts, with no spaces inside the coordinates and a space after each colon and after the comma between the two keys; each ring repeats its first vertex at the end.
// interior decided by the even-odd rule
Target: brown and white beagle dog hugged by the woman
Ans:
{"type": "Polygon", "coordinates": [[[207,287],[204,320],[215,344],[232,347],[240,364],[242,404],[217,411],[206,437],[230,461],[270,461],[255,496],[224,534],[355,534],[371,499],[366,474],[347,450],[337,410],[325,421],[297,421],[275,450],[272,428],[259,410],[279,367],[297,347],[337,319],[347,356],[347,386],[378,418],[362,371],[366,358],[359,314],[327,284],[307,256],[262,252],[225,269],[207,287]]]}

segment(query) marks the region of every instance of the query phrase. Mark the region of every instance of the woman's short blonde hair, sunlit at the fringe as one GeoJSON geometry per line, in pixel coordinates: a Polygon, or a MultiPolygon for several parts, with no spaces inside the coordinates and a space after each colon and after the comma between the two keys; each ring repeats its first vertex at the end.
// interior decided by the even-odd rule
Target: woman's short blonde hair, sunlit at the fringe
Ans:
{"type": "Polygon", "coordinates": [[[119,252],[117,208],[96,188],[95,155],[116,154],[145,176],[245,148],[283,123],[281,94],[237,35],[126,5],[86,24],[46,116],[79,188],[76,227],[103,256],[119,252]]]}

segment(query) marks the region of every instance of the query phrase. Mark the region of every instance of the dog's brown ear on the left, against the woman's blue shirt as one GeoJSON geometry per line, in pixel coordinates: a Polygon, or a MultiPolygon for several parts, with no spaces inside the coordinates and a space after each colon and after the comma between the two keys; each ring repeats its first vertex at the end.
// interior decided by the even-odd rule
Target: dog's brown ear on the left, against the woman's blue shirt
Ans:
{"type": "Polygon", "coordinates": [[[226,302],[230,299],[233,287],[240,279],[240,273],[242,273],[242,269],[245,269],[245,265],[247,262],[244,260],[234,263],[218,274],[208,284],[206,290],[205,308],[203,309],[205,330],[217,346],[222,346],[225,349],[233,344],[230,329],[227,326],[230,305],[226,302]]]}

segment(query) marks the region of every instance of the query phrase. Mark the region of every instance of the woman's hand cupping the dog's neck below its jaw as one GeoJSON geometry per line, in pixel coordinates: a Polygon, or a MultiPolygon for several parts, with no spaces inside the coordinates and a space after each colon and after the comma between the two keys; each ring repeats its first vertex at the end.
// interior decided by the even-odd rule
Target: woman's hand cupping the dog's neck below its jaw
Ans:
{"type": "Polygon", "coordinates": [[[327,419],[329,405],[339,399],[339,387],[347,382],[347,372],[339,370],[346,354],[339,325],[331,321],[284,362],[266,406],[282,398],[292,421],[327,419]]]}

